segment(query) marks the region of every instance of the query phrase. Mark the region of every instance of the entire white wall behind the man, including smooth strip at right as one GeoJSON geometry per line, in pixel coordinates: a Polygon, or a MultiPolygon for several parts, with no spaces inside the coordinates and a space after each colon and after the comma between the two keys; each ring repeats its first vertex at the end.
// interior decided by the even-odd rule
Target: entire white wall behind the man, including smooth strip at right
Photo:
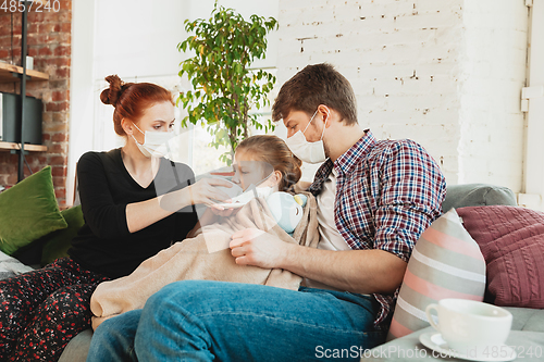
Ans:
{"type": "Polygon", "coordinates": [[[521,153],[503,155],[505,148],[522,149],[523,116],[515,104],[524,79],[518,50],[527,42],[527,9],[523,1],[505,3],[280,0],[279,84],[307,64],[332,63],[351,82],[359,123],[378,138],[420,142],[448,184],[492,182],[519,191],[521,153]],[[493,33],[499,22],[500,33],[493,33]],[[516,57],[506,57],[499,71],[482,74],[497,52],[510,50],[516,57]],[[483,103],[475,93],[485,95],[483,103]],[[483,121],[483,112],[504,103],[507,111],[499,107],[483,121]],[[482,141],[482,128],[494,136],[482,141]],[[477,172],[481,158],[493,159],[486,172],[477,172]]]}

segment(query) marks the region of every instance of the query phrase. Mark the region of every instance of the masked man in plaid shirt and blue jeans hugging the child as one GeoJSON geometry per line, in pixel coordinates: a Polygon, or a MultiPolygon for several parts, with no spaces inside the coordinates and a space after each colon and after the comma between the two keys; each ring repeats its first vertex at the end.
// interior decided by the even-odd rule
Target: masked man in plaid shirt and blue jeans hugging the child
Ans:
{"type": "Polygon", "coordinates": [[[444,176],[418,143],[378,141],[362,128],[349,82],[329,64],[285,83],[272,117],[283,120],[295,155],[324,161],[309,187],[320,242],[306,248],[246,229],[231,249],[238,264],[288,270],[305,285],[175,283],[149,299],[141,317],[114,319],[123,319],[116,328],[129,326],[120,341],[98,328],[94,339],[108,339],[107,350],[126,360],[133,349],[123,338],[132,334],[143,361],[358,360],[384,341],[413,245],[442,213],[444,176]]]}

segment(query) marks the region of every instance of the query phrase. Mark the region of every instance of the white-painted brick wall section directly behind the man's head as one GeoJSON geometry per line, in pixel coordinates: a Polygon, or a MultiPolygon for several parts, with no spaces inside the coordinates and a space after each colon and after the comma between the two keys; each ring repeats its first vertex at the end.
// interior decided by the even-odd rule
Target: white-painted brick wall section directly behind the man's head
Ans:
{"type": "Polygon", "coordinates": [[[354,87],[363,127],[420,142],[456,183],[461,3],[281,0],[280,83],[332,63],[354,87]]]}

